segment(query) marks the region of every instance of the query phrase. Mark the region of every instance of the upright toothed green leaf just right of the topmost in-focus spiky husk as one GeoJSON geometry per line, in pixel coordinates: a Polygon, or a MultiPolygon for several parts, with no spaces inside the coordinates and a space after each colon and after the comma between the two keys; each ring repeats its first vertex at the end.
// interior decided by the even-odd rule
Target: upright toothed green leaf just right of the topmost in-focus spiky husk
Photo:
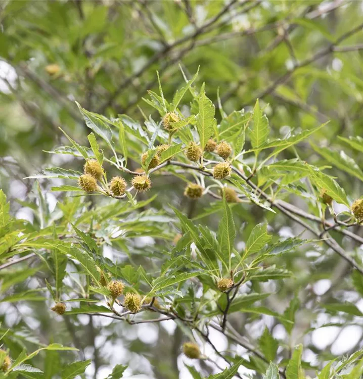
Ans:
{"type": "Polygon", "coordinates": [[[215,125],[215,107],[211,100],[206,97],[204,84],[200,91],[198,98],[198,115],[197,115],[197,130],[200,139],[200,147],[204,150],[208,139],[213,134],[213,127],[215,125]]]}

